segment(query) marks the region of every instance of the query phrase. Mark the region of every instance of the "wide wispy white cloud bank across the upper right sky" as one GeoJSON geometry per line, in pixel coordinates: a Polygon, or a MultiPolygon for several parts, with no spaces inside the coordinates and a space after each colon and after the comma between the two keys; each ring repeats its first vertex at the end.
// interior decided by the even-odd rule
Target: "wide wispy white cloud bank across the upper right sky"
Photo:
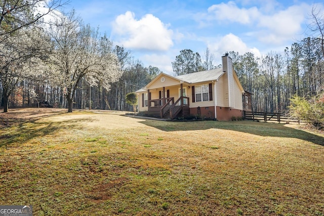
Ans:
{"type": "MultiPolygon", "coordinates": [[[[262,4],[260,8],[239,8],[233,1],[213,5],[203,21],[210,23],[211,20],[218,20],[224,24],[227,24],[226,21],[231,22],[232,28],[240,31],[249,29],[254,32],[253,36],[257,40],[271,45],[284,44],[302,34],[302,25],[306,23],[312,6],[303,3],[282,9],[278,2],[271,2],[271,6],[262,4]]],[[[200,26],[203,26],[201,20],[200,26]]]]}

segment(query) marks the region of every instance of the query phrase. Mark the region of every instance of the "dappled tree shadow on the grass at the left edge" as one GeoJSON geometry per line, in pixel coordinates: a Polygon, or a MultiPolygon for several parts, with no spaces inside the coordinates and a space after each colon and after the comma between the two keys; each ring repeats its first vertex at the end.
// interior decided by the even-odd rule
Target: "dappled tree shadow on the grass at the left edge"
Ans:
{"type": "MultiPolygon", "coordinates": [[[[37,120],[45,117],[47,116],[38,117],[37,120]]],[[[0,135],[0,147],[13,144],[20,145],[36,137],[44,137],[65,129],[70,130],[80,127],[82,125],[80,122],[93,121],[92,118],[77,118],[57,122],[37,122],[37,120],[25,121],[15,126],[7,127],[6,130],[4,129],[0,135]]]]}

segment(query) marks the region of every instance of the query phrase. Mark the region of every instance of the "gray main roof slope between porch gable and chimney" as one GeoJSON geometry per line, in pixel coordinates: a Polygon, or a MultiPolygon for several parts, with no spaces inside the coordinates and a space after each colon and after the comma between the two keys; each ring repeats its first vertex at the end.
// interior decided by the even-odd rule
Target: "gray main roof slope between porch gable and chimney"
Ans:
{"type": "Polygon", "coordinates": [[[182,79],[185,82],[197,83],[212,81],[218,79],[223,74],[223,68],[217,68],[213,70],[204,70],[195,73],[188,73],[180,76],[176,76],[178,79],[182,79]]]}

